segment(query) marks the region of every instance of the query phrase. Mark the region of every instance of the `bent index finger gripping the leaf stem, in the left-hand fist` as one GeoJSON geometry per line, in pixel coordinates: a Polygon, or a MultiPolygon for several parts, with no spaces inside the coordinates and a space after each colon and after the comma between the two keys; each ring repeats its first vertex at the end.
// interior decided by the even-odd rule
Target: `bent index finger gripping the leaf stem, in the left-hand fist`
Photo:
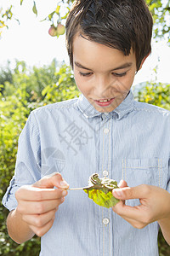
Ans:
{"type": "Polygon", "coordinates": [[[40,189],[34,186],[22,186],[15,193],[17,201],[55,200],[67,195],[63,189],[40,189]]]}

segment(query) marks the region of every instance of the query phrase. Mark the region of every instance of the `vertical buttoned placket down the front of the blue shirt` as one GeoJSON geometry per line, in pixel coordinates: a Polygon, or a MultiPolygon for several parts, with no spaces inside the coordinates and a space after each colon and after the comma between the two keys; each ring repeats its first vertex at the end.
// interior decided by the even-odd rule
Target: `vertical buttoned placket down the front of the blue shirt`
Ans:
{"type": "MultiPolygon", "coordinates": [[[[111,117],[102,114],[100,129],[100,177],[111,174],[111,117]]],[[[100,207],[100,245],[102,256],[112,256],[112,219],[111,208],[100,207]]]]}

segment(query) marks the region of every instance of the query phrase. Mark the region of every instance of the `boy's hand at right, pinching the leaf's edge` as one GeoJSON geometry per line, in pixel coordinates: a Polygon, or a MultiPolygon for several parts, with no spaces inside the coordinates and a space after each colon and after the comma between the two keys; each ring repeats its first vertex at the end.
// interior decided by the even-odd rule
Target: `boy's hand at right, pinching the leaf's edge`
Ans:
{"type": "Polygon", "coordinates": [[[119,186],[121,189],[113,189],[112,193],[121,201],[112,209],[134,228],[142,229],[154,221],[170,218],[170,194],[167,190],[145,184],[130,188],[125,181],[119,186]],[[128,199],[139,199],[140,205],[126,206],[125,200],[128,199]]]}

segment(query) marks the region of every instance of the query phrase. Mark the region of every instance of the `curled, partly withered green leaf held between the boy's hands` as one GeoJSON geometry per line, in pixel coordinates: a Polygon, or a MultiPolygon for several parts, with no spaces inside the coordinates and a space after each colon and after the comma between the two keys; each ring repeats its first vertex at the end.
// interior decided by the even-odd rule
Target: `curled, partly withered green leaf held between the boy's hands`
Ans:
{"type": "Polygon", "coordinates": [[[118,199],[112,195],[112,189],[118,188],[115,180],[104,177],[99,178],[99,174],[94,173],[89,177],[89,187],[84,188],[84,192],[100,207],[114,207],[118,199]],[[91,185],[92,184],[92,185],[91,185]]]}

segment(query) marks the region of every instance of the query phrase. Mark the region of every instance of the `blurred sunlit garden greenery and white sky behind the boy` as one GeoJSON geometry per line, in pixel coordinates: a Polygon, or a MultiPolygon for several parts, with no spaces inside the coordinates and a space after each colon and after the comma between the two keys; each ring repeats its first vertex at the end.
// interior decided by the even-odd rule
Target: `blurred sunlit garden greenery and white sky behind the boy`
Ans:
{"type": "MultiPolygon", "coordinates": [[[[31,110],[79,96],[65,48],[71,0],[1,0],[0,201],[14,175],[17,142],[31,110]],[[59,28],[60,26],[60,28],[59,28]]],[[[146,0],[154,19],[152,52],[133,83],[136,100],[170,110],[170,1],[146,0]]],[[[38,255],[40,240],[8,237],[0,204],[0,255],[38,255]]],[[[159,234],[160,255],[170,249],[159,234]]]]}

